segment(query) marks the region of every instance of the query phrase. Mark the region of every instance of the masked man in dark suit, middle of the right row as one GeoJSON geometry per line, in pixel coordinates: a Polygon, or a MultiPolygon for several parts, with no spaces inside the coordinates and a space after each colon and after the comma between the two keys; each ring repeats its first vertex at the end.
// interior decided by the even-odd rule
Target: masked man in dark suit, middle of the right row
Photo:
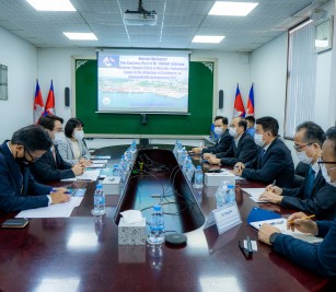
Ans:
{"type": "Polygon", "coordinates": [[[292,186],[293,160],[287,145],[278,139],[278,131],[279,124],[275,118],[263,117],[256,120],[254,141],[260,147],[259,153],[246,164],[235,164],[235,175],[264,184],[276,183],[279,187],[292,186]]]}

